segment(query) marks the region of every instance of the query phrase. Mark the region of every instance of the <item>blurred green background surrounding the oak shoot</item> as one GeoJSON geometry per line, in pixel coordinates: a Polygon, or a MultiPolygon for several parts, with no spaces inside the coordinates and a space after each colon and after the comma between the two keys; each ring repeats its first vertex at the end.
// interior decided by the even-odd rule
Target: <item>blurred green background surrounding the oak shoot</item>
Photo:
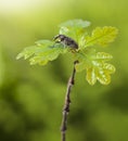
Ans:
{"type": "Polygon", "coordinates": [[[116,66],[111,85],[89,86],[86,73],[76,76],[67,141],[128,141],[127,9],[127,0],[0,0],[0,141],[61,141],[71,56],[43,67],[15,56],[73,18],[90,21],[90,29],[115,26],[119,34],[103,49],[116,66]]]}

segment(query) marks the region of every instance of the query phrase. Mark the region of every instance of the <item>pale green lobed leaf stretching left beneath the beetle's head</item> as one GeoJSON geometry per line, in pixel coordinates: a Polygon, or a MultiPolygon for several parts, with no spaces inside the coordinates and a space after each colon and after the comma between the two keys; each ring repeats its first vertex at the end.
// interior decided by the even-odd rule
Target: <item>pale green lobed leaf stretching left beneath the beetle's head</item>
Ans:
{"type": "Polygon", "coordinates": [[[25,48],[16,59],[24,57],[26,60],[30,57],[30,65],[46,65],[49,61],[55,60],[61,53],[66,53],[68,50],[63,44],[54,43],[50,40],[40,40],[36,44],[25,48]]]}

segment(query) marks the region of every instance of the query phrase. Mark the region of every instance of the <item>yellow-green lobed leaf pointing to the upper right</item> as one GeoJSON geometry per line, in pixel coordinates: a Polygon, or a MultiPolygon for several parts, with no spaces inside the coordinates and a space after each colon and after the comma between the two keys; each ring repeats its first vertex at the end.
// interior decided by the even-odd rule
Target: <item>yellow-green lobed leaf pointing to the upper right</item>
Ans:
{"type": "Polygon", "coordinates": [[[112,26],[97,27],[91,36],[86,37],[86,47],[93,44],[105,47],[114,41],[117,33],[117,28],[112,26]]]}

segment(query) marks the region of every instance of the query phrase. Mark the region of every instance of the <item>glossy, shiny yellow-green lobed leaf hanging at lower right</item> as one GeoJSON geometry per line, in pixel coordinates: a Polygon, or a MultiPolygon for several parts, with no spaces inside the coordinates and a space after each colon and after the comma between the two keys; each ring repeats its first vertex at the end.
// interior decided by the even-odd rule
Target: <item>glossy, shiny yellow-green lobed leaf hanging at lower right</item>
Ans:
{"type": "MultiPolygon", "coordinates": [[[[98,52],[94,50],[86,51],[82,55],[77,55],[78,64],[76,64],[76,70],[86,70],[86,79],[90,85],[94,85],[99,80],[102,85],[108,85],[111,82],[111,74],[115,73],[115,67],[112,64],[106,63],[113,56],[108,53],[98,52]]],[[[79,53],[78,53],[79,54],[79,53]]],[[[81,52],[80,52],[81,54],[81,52]]]]}

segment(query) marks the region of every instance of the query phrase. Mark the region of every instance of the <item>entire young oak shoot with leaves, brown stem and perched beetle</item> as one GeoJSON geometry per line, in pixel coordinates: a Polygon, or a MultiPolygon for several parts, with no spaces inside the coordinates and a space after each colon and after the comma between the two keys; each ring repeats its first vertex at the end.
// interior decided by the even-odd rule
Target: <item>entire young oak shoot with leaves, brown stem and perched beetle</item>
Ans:
{"type": "Polygon", "coordinates": [[[106,47],[114,41],[118,30],[112,26],[97,27],[89,35],[87,27],[90,22],[82,20],[67,21],[60,25],[59,35],[54,40],[39,40],[35,46],[25,48],[17,60],[28,59],[30,65],[46,65],[48,62],[57,59],[60,54],[71,52],[74,56],[74,69],[67,84],[65,104],[62,119],[62,141],[65,141],[67,115],[71,104],[71,89],[75,84],[75,74],[86,70],[86,79],[90,85],[97,80],[102,85],[111,82],[111,74],[114,74],[115,67],[108,63],[113,56],[105,52],[98,52],[97,46],[106,47]]]}

